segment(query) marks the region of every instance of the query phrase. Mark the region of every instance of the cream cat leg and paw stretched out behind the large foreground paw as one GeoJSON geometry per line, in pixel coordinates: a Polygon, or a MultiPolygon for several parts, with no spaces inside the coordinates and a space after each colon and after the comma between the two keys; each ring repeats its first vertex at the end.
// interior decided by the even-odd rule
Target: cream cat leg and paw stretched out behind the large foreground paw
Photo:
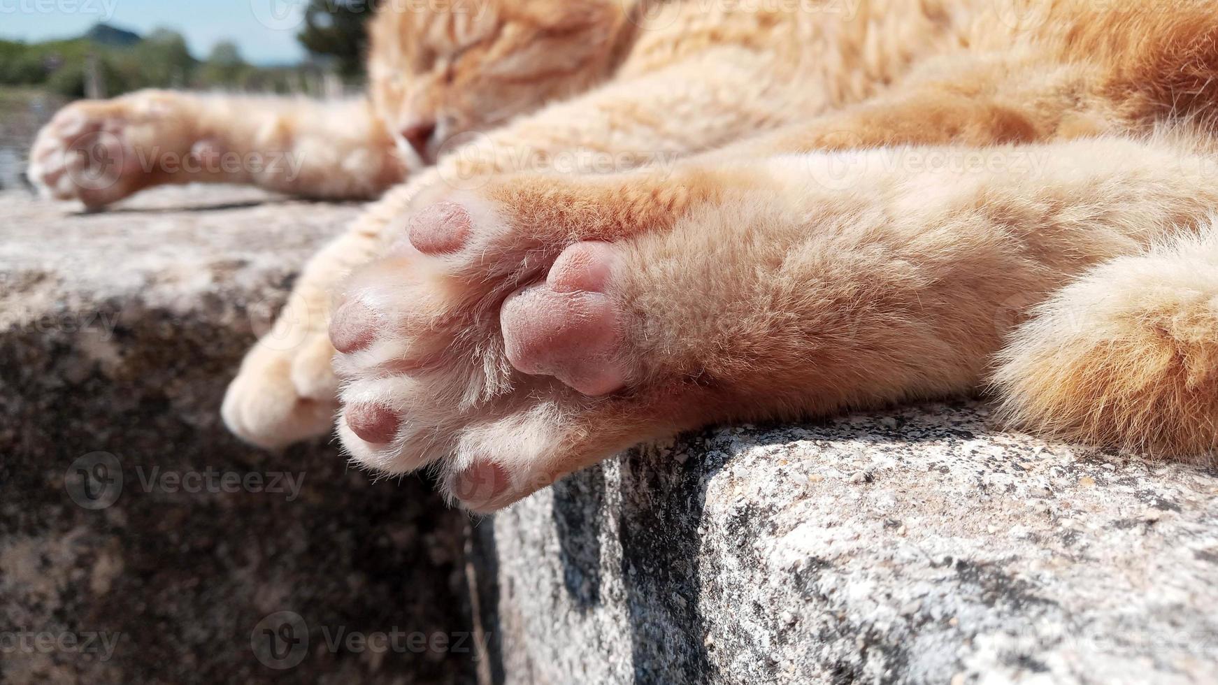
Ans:
{"type": "MultiPolygon", "coordinates": [[[[657,179],[671,174],[687,155],[786,120],[773,114],[780,110],[777,91],[755,57],[711,60],[720,64],[714,72],[702,60],[674,64],[547,107],[503,129],[460,139],[463,146],[391,190],[347,236],[309,264],[280,321],[246,356],[230,384],[223,408],[228,426],[246,440],[268,447],[330,428],[328,412],[335,406],[336,381],[330,369],[334,349],[325,333],[330,315],[326,293],[354,265],[392,241],[412,210],[459,189],[476,192],[497,174],[514,172],[544,169],[570,176],[649,165],[657,179]],[[708,73],[715,78],[706,78],[708,73]],[[283,342],[297,337],[302,339],[283,342]]],[[[540,202],[547,197],[553,176],[543,178],[537,186],[540,202]]],[[[680,187],[657,187],[667,197],[665,202],[683,202],[680,187]]],[[[583,202],[579,195],[568,198],[572,206],[583,202]]],[[[588,225],[607,220],[598,213],[608,203],[583,206],[596,210],[585,215],[588,225]]],[[[661,214],[635,214],[627,223],[655,221],[661,214]]]]}

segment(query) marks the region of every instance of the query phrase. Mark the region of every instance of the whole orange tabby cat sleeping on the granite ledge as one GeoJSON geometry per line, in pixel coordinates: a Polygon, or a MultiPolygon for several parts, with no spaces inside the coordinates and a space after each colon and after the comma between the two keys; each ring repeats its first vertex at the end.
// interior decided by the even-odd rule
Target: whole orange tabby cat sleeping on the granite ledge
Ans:
{"type": "Polygon", "coordinates": [[[367,101],[138,92],[38,139],[89,206],[384,192],[269,333],[302,342],[242,363],[245,439],[337,409],[354,461],[475,511],[697,426],[987,388],[1050,437],[1218,447],[1211,0],[442,7],[385,4],[367,101]],[[208,163],[270,153],[296,172],[208,163]]]}

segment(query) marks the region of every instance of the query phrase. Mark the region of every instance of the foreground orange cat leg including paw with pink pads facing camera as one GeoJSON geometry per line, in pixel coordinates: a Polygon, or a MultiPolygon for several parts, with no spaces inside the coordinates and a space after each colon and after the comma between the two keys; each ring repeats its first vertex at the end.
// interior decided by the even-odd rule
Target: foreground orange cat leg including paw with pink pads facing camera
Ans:
{"type": "Polygon", "coordinates": [[[1183,146],[1039,150],[1035,173],[860,152],[848,189],[792,155],[452,191],[343,287],[342,444],[491,511],[694,426],[972,392],[1029,307],[1218,207],[1183,146]]]}

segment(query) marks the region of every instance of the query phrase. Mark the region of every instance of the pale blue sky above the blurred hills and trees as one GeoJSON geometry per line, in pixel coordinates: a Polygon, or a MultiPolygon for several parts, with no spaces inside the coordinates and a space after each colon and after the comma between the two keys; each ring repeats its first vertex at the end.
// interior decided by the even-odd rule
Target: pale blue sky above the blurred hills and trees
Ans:
{"type": "Polygon", "coordinates": [[[99,21],[141,34],[168,27],[196,57],[233,40],[250,62],[283,63],[304,52],[296,32],[306,0],[0,0],[0,38],[45,40],[79,35],[99,21]]]}

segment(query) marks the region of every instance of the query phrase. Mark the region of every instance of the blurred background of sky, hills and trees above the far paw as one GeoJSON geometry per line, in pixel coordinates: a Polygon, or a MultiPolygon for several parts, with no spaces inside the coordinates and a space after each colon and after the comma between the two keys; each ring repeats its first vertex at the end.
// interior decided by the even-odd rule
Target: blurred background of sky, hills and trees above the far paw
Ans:
{"type": "Polygon", "coordinates": [[[370,0],[0,2],[0,189],[65,102],[141,88],[339,96],[363,86],[370,0]]]}

